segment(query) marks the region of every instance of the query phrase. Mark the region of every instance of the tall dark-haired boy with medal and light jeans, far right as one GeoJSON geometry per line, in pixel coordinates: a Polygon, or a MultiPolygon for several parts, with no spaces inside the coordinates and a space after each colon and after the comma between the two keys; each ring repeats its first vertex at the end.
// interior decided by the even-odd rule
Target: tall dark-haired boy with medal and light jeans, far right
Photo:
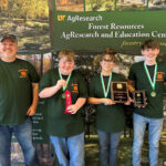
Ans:
{"type": "MultiPolygon", "coordinates": [[[[147,40],[142,44],[144,62],[134,64],[131,69],[128,83],[135,83],[136,90],[145,90],[147,105],[135,107],[134,112],[134,143],[133,165],[141,166],[142,145],[146,124],[148,124],[149,165],[158,165],[158,143],[163,128],[163,92],[166,81],[166,65],[157,62],[159,43],[147,40]]],[[[131,91],[135,91],[129,86],[131,91]]]]}

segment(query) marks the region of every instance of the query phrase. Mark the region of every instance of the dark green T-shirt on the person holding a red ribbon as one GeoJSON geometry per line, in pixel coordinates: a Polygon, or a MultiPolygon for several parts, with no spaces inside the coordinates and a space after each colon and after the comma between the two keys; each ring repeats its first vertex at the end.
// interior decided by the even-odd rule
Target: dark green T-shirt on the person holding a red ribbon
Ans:
{"type": "MultiPolygon", "coordinates": [[[[66,76],[62,75],[62,77],[66,80],[66,76]]],[[[40,92],[55,85],[59,80],[58,69],[48,71],[40,81],[40,92]]],[[[72,104],[75,104],[79,97],[87,97],[85,81],[76,71],[72,72],[68,90],[71,92],[72,104]]],[[[82,108],[76,114],[65,114],[65,98],[62,97],[62,94],[63,90],[61,89],[53,96],[44,98],[45,129],[49,135],[62,137],[81,134],[84,131],[82,108]]]]}

